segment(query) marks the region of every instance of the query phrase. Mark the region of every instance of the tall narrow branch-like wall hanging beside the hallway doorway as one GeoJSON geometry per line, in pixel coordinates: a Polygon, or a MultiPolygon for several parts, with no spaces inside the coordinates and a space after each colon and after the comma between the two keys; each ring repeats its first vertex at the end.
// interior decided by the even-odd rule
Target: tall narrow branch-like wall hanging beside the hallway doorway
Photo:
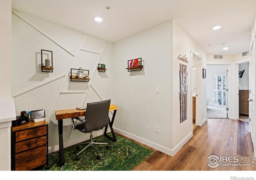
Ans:
{"type": "Polygon", "coordinates": [[[180,64],[180,123],[187,119],[188,71],[187,65],[180,64]]]}

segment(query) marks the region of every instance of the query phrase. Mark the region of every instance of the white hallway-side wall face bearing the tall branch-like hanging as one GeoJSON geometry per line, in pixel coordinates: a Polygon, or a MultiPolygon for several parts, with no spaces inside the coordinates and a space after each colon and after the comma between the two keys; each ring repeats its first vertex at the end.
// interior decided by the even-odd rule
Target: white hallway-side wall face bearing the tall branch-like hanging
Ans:
{"type": "MultiPolygon", "coordinates": [[[[177,152],[177,150],[182,146],[182,144],[186,143],[186,141],[192,137],[192,59],[191,59],[191,53],[194,52],[197,56],[201,58],[201,67],[206,68],[206,53],[196,42],[180,28],[180,26],[173,21],[173,56],[172,56],[172,64],[173,64],[173,100],[172,100],[172,133],[173,133],[173,140],[172,140],[172,148],[174,150],[174,153],[177,152]],[[182,61],[178,60],[178,55],[184,55],[186,54],[188,59],[188,64],[183,63],[182,61]],[[179,80],[179,67],[180,63],[186,64],[188,68],[188,119],[184,122],[180,123],[180,106],[177,106],[180,104],[179,99],[179,92],[180,92],[180,80],[179,80]]],[[[200,72],[202,72],[200,70],[200,72]]],[[[199,76],[202,77],[202,74],[199,76]]],[[[202,104],[202,108],[200,109],[201,114],[201,121],[200,125],[202,125],[206,121],[206,79],[200,78],[200,82],[198,83],[199,86],[196,87],[198,91],[198,97],[197,101],[202,104]]]]}

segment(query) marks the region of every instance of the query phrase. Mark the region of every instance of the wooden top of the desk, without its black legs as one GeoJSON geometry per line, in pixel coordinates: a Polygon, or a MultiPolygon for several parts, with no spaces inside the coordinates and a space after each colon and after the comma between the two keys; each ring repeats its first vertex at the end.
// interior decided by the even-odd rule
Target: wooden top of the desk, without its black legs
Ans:
{"type": "MultiPolygon", "coordinates": [[[[110,104],[109,110],[110,111],[118,110],[118,107],[116,107],[114,104],[110,104]]],[[[58,110],[58,111],[55,111],[55,117],[56,117],[56,120],[75,118],[75,117],[85,116],[85,112],[86,112],[86,109],[83,109],[83,110],[79,110],[79,109],[58,110]]]]}

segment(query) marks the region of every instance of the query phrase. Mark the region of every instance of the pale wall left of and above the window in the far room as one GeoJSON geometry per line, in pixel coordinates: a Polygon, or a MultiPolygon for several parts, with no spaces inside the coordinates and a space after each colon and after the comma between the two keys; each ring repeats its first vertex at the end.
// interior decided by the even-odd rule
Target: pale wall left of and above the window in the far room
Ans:
{"type": "Polygon", "coordinates": [[[225,68],[228,65],[207,65],[207,96],[210,98],[210,103],[215,104],[215,74],[225,74],[225,68]]]}

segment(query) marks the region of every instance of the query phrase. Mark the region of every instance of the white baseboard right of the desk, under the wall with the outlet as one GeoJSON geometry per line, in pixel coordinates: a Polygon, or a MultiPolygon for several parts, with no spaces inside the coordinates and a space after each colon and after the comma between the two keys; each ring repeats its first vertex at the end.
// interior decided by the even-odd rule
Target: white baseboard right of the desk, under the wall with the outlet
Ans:
{"type": "Polygon", "coordinates": [[[151,141],[148,141],[148,140],[146,140],[146,139],[140,138],[140,137],[138,137],[138,136],[135,136],[135,135],[133,135],[133,134],[130,134],[130,133],[128,133],[128,132],[125,132],[125,131],[120,130],[120,129],[117,129],[117,128],[114,128],[114,131],[117,132],[117,133],[119,133],[119,134],[122,134],[123,136],[126,136],[126,137],[128,137],[128,138],[131,138],[131,139],[133,139],[133,140],[136,140],[136,141],[138,141],[138,142],[140,142],[140,143],[142,143],[142,144],[145,144],[145,145],[147,145],[147,146],[150,146],[150,147],[152,147],[152,148],[154,148],[154,149],[156,149],[156,150],[159,150],[159,151],[161,151],[161,152],[163,152],[163,153],[165,153],[165,154],[168,154],[168,155],[172,156],[172,150],[170,150],[170,149],[168,149],[168,148],[166,148],[166,147],[164,147],[164,146],[161,146],[161,145],[156,144],[156,143],[154,143],[154,142],[151,142],[151,141]]]}

